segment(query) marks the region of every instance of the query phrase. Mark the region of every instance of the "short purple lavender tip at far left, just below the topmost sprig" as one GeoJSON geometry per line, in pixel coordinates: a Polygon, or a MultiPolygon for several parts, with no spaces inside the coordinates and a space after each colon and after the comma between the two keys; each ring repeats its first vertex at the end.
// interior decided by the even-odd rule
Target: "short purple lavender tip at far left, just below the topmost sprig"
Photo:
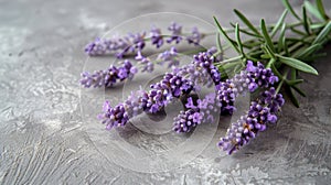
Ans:
{"type": "Polygon", "coordinates": [[[82,73],[81,85],[89,87],[111,87],[117,81],[122,81],[125,79],[131,79],[137,73],[137,68],[132,66],[129,61],[125,61],[124,65],[116,67],[110,65],[105,70],[97,70],[93,74],[88,72],[82,73]]]}

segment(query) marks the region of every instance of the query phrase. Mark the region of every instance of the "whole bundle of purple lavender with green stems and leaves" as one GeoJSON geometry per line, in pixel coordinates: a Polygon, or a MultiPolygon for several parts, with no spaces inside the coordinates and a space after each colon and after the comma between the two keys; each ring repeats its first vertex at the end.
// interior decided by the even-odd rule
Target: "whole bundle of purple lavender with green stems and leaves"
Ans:
{"type": "Polygon", "coordinates": [[[268,25],[261,19],[260,25],[255,26],[243,13],[234,10],[245,28],[239,23],[231,23],[233,29],[225,30],[214,18],[218,30],[217,47],[195,53],[192,62],[182,67],[178,67],[181,53],[175,44],[188,42],[199,46],[200,41],[209,34],[201,33],[197,28],[193,28],[191,33],[183,33],[181,25],[172,23],[168,28],[170,34],[162,34],[160,29],[152,28],[149,37],[143,32],[124,37],[97,39],[86,46],[88,55],[114,54],[124,58],[127,54],[135,54],[135,63],[126,59],[122,66],[110,66],[92,74],[85,72],[81,84],[87,88],[113,87],[118,81],[131,79],[138,72],[152,72],[154,64],[172,67],[171,73],[164,74],[160,81],[150,86],[150,90],[139,89],[116,106],[106,101],[98,118],[107,129],[125,127],[141,112],[157,113],[173,99],[184,98],[185,110],[174,118],[173,131],[190,132],[201,123],[214,121],[213,112],[232,115],[236,110],[236,98],[252,92],[249,110],[229,126],[218,142],[221,149],[232,154],[256,138],[258,132],[265,131],[268,124],[277,122],[285,104],[281,92],[287,92],[292,104],[299,107],[296,96],[306,96],[298,86],[305,81],[299,74],[318,75],[310,63],[325,55],[320,50],[331,39],[331,20],[322,1],[305,1],[301,15],[293,11],[288,0],[282,0],[282,3],[286,9],[276,24],[268,25]],[[289,13],[297,22],[285,22],[289,13]],[[232,39],[228,33],[234,33],[235,37],[232,39]],[[246,35],[245,40],[241,34],[246,35]],[[227,41],[226,46],[221,45],[221,36],[227,41]],[[152,61],[143,56],[147,43],[157,48],[166,44],[172,47],[152,61]],[[233,48],[237,56],[226,57],[224,51],[227,48],[233,48]],[[226,75],[229,72],[235,75],[226,75]],[[213,86],[214,92],[201,99],[192,98],[190,95],[197,92],[201,86],[213,86]]]}

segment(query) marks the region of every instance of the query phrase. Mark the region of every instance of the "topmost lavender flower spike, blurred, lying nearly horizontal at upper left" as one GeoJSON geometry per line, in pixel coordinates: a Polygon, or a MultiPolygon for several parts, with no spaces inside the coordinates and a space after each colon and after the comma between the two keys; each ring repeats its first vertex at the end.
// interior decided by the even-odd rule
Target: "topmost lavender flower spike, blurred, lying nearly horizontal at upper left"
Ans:
{"type": "MultiPolygon", "coordinates": [[[[173,41],[175,44],[179,44],[182,40],[186,40],[189,44],[199,45],[200,40],[204,36],[197,28],[192,29],[192,33],[185,36],[182,33],[182,25],[173,22],[168,28],[171,32],[171,35],[167,40],[167,43],[172,43],[173,41]]],[[[150,39],[151,45],[156,45],[157,48],[161,47],[166,42],[164,37],[168,35],[163,35],[161,30],[152,26],[149,33],[150,37],[147,37],[146,32],[136,33],[136,34],[128,34],[127,36],[114,36],[111,39],[96,39],[94,42],[87,44],[85,46],[85,53],[90,56],[96,55],[106,55],[106,54],[115,54],[118,58],[122,58],[126,54],[138,54],[141,52],[145,46],[146,42],[150,39]]]]}

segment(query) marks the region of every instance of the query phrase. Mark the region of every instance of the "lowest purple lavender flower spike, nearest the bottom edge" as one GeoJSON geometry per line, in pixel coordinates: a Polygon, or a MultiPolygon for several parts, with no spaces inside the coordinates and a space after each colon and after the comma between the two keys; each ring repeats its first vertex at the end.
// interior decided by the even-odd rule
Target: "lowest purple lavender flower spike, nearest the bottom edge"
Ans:
{"type": "Polygon", "coordinates": [[[276,94],[274,87],[260,94],[261,98],[252,101],[248,113],[232,123],[224,138],[221,138],[218,146],[228,154],[239,150],[254,139],[259,131],[265,131],[267,123],[277,121],[277,111],[285,100],[280,94],[276,94]]]}

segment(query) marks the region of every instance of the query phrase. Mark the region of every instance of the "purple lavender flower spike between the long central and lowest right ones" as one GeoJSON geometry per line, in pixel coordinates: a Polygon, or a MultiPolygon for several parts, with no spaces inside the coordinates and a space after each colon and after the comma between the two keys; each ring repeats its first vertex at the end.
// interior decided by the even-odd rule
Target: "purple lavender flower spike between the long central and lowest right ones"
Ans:
{"type": "MultiPolygon", "coordinates": [[[[260,87],[269,87],[277,81],[278,78],[273,74],[270,69],[266,69],[263,64],[257,63],[254,66],[253,62],[247,63],[245,70],[236,74],[233,78],[221,81],[215,86],[215,94],[206,96],[204,99],[197,100],[197,106],[193,105],[192,99],[188,99],[185,107],[189,109],[186,111],[181,111],[179,116],[174,119],[174,129],[177,132],[188,132],[191,128],[201,123],[191,120],[193,115],[196,118],[197,115],[204,116],[202,110],[205,108],[217,108],[221,115],[232,115],[235,111],[235,99],[239,94],[245,95],[246,91],[254,92],[256,88],[249,88],[255,84],[260,84],[259,81],[265,81],[260,84],[260,87]],[[267,75],[264,75],[267,74],[267,75]],[[211,98],[211,97],[214,98],[211,98]],[[201,104],[202,102],[202,104],[201,104]],[[204,105],[204,106],[201,106],[204,105]]],[[[210,111],[207,111],[210,112],[210,111]]],[[[210,120],[213,120],[213,115],[207,115],[210,120]]],[[[199,119],[195,119],[199,120],[199,119]]]]}

